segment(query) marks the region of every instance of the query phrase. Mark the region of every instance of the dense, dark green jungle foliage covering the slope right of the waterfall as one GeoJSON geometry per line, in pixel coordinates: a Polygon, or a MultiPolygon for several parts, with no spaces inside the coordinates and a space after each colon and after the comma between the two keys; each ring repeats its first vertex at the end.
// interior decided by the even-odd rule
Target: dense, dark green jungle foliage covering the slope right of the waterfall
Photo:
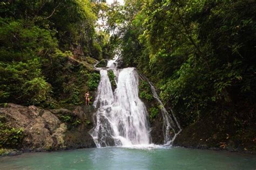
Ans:
{"type": "Polygon", "coordinates": [[[127,0],[106,13],[125,67],[156,84],[183,128],[211,119],[223,138],[254,142],[255,1],[127,0]]]}

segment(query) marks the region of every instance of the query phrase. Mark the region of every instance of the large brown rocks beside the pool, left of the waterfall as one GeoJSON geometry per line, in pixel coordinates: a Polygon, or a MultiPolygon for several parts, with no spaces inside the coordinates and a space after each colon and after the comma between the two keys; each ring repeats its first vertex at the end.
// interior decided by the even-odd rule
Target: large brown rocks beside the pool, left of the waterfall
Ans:
{"type": "Polygon", "coordinates": [[[44,110],[35,106],[24,107],[9,103],[0,108],[0,116],[6,118],[6,124],[13,128],[23,129],[24,138],[19,150],[50,151],[67,148],[95,147],[88,133],[93,127],[92,106],[77,106],[75,110],[44,110]],[[71,120],[63,121],[68,115],[71,120]]]}

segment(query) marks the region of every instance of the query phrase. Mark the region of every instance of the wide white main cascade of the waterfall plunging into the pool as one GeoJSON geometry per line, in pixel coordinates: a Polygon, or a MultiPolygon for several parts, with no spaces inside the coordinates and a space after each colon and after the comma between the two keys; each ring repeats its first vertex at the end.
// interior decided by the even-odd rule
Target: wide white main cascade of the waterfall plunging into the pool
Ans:
{"type": "Polygon", "coordinates": [[[98,108],[96,126],[91,130],[91,136],[97,147],[148,145],[147,112],[138,96],[136,69],[118,71],[117,88],[113,94],[107,70],[100,70],[97,98],[93,103],[98,108]]]}

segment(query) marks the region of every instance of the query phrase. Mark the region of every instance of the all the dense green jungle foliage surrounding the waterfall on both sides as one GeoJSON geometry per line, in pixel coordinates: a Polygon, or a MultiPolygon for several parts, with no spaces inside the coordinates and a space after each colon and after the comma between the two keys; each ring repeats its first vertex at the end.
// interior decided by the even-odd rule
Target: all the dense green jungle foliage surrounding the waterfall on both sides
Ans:
{"type": "MultiPolygon", "coordinates": [[[[0,103],[82,104],[99,83],[93,65],[118,48],[123,66],[155,84],[183,129],[208,124],[212,138],[239,139],[256,150],[254,0],[101,2],[1,1],[0,103]]],[[[153,100],[146,82],[139,88],[141,98],[153,100]]],[[[158,107],[152,105],[151,120],[158,107]]]]}

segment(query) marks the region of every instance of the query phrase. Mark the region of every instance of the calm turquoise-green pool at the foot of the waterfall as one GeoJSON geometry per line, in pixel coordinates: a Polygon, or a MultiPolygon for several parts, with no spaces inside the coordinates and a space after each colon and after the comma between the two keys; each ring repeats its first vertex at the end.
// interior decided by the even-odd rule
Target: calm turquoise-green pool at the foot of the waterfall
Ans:
{"type": "Polygon", "coordinates": [[[0,158],[0,169],[256,169],[256,155],[187,148],[89,148],[0,158]]]}

